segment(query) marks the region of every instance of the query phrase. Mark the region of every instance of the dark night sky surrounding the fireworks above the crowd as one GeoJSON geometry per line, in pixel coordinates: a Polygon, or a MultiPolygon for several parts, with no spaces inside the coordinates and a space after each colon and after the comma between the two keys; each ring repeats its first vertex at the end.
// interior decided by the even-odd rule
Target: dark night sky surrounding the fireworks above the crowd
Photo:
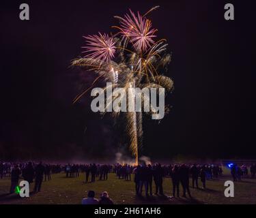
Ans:
{"type": "Polygon", "coordinates": [[[122,136],[90,111],[88,96],[72,105],[92,78],[70,60],[81,55],[82,35],[114,32],[113,16],[155,5],[150,18],[169,42],[175,90],[165,119],[143,123],[141,154],[255,158],[253,1],[38,0],[1,1],[0,159],[113,157],[122,136]],[[30,20],[19,19],[20,3],[30,20]],[[224,19],[225,3],[234,21],[224,19]]]}

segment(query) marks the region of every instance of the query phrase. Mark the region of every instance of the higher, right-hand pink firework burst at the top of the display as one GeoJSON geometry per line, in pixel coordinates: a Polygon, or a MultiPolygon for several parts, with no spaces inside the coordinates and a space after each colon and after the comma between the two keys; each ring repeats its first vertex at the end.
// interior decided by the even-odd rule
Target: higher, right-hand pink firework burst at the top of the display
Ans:
{"type": "Polygon", "coordinates": [[[130,10],[130,14],[126,14],[121,18],[121,34],[128,37],[133,44],[135,50],[144,52],[154,44],[153,38],[156,37],[154,33],[156,29],[152,29],[152,22],[147,18],[137,14],[137,16],[130,10]]]}

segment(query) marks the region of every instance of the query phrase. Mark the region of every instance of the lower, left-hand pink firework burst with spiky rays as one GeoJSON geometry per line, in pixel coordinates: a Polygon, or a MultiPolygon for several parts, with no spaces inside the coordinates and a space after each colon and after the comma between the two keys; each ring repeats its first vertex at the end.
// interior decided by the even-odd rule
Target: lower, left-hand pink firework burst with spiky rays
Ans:
{"type": "Polygon", "coordinates": [[[115,55],[115,42],[113,37],[109,37],[107,34],[88,35],[83,36],[86,39],[87,45],[82,47],[86,48],[84,52],[87,52],[85,57],[100,60],[110,61],[115,55]]]}

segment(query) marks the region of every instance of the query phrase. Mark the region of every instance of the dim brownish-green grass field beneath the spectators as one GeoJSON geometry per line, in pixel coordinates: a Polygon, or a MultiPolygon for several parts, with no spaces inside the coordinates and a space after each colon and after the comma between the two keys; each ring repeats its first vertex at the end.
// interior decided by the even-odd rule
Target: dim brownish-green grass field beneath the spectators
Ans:
{"type": "MultiPolygon", "coordinates": [[[[207,190],[190,189],[192,199],[169,198],[171,196],[171,178],[165,178],[163,187],[166,196],[138,198],[134,195],[134,182],[118,179],[115,174],[109,174],[108,181],[83,183],[85,174],[78,178],[66,178],[66,174],[53,174],[51,181],[42,183],[39,193],[30,193],[29,198],[20,198],[17,194],[9,195],[10,177],[0,179],[0,204],[81,204],[81,199],[87,196],[87,191],[96,191],[96,198],[102,191],[108,191],[115,204],[256,204],[256,179],[243,178],[235,182],[235,197],[225,198],[224,183],[231,180],[227,170],[218,179],[207,181],[207,190]]],[[[34,183],[30,189],[33,190],[34,183]]],[[[199,181],[201,187],[201,181],[199,181]]],[[[153,185],[153,193],[154,193],[153,185]]],[[[182,187],[180,186],[180,193],[182,187]]]]}

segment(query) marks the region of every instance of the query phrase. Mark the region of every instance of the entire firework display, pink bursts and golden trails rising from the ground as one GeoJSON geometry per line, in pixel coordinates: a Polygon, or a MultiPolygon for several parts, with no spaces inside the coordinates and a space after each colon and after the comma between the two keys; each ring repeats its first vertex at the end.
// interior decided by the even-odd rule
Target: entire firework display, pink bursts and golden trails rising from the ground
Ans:
{"type": "MultiPolygon", "coordinates": [[[[171,78],[163,76],[171,61],[171,55],[166,52],[166,40],[155,40],[157,30],[152,29],[152,21],[145,17],[158,7],[153,7],[143,16],[139,12],[136,15],[131,10],[130,14],[125,14],[124,17],[115,16],[119,20],[119,26],[113,27],[119,32],[113,37],[101,33],[85,37],[87,43],[83,47],[85,48],[83,51],[85,57],[73,60],[72,65],[95,72],[98,76],[89,88],[77,95],[74,103],[81,99],[100,79],[112,82],[113,87],[124,88],[127,95],[130,87],[156,88],[158,93],[160,93],[160,88],[165,88],[167,91],[173,89],[171,78]]],[[[105,87],[104,92],[107,89],[108,87],[105,87]]],[[[136,112],[135,94],[132,93],[132,96],[132,102],[129,103],[132,104],[133,110],[124,112],[124,116],[126,117],[126,133],[130,139],[129,148],[135,157],[135,163],[138,164],[139,149],[143,140],[143,113],[136,112]]],[[[112,104],[116,98],[105,99],[105,112],[109,104],[112,104]]],[[[150,103],[147,97],[142,97],[141,104],[144,105],[144,103],[150,103]]],[[[156,112],[154,109],[151,106],[150,112],[144,112],[144,114],[152,115],[156,112]]],[[[168,110],[166,108],[167,112],[168,110]]],[[[115,119],[122,115],[120,112],[112,112],[112,114],[115,119]]]]}

